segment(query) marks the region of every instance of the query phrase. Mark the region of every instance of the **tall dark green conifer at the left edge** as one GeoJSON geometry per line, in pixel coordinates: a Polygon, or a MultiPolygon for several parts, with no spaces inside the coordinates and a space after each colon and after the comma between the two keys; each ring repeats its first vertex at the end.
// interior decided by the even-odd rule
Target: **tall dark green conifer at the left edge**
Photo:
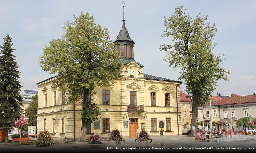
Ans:
{"type": "Polygon", "coordinates": [[[0,129],[5,128],[5,143],[8,143],[8,129],[20,117],[20,106],[23,106],[19,94],[19,68],[12,52],[12,37],[7,34],[3,46],[0,46],[0,129]]]}

